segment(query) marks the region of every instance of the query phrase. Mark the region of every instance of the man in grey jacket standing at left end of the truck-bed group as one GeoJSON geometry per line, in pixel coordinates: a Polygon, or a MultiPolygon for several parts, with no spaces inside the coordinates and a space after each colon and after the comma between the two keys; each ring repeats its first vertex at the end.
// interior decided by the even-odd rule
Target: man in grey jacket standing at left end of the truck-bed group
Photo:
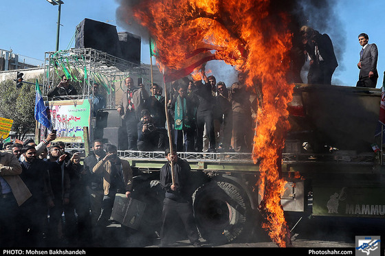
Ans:
{"type": "Polygon", "coordinates": [[[144,88],[138,89],[135,87],[132,78],[126,78],[124,82],[127,91],[123,93],[117,110],[126,124],[128,149],[137,150],[137,124],[139,123],[144,102],[148,98],[148,93],[144,88]]]}

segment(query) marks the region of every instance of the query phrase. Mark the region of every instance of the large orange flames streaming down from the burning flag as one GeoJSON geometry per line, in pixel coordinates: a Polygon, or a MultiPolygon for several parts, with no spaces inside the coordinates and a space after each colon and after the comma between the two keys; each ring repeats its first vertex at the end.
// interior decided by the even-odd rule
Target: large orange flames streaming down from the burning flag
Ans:
{"type": "Polygon", "coordinates": [[[133,5],[133,14],[155,38],[165,73],[176,71],[173,78],[214,59],[247,73],[245,84],[261,96],[253,159],[261,172],[263,226],[285,247],[290,237],[280,202],[285,186],[280,156],[293,91],[285,79],[292,33],[289,16],[276,5],[273,0],[143,0],[133,5]]]}

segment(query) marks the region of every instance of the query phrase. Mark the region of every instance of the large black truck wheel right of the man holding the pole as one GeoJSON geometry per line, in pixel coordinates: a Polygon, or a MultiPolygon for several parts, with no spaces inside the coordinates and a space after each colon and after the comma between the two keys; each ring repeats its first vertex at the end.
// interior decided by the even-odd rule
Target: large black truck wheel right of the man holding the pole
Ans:
{"type": "MultiPolygon", "coordinates": [[[[212,181],[192,195],[195,220],[201,237],[212,243],[232,242],[245,233],[247,200],[241,189],[223,181],[212,181]]],[[[250,208],[250,207],[248,207],[250,208]]]]}

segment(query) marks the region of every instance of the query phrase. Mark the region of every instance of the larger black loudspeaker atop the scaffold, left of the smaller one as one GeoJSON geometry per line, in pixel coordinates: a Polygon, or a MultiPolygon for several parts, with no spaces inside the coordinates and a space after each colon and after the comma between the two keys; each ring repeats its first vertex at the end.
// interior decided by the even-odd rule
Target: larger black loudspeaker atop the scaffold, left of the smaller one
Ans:
{"type": "Polygon", "coordinates": [[[76,26],[75,48],[93,48],[122,58],[116,27],[91,19],[84,19],[76,26]]]}

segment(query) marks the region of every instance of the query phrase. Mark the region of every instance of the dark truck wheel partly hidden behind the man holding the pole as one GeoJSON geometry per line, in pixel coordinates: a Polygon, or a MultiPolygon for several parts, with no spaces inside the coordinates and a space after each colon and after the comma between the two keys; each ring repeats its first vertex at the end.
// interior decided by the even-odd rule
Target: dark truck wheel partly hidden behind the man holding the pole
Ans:
{"type": "Polygon", "coordinates": [[[160,181],[154,180],[149,183],[146,181],[135,187],[135,198],[146,203],[139,226],[140,231],[147,235],[159,234],[164,200],[164,191],[160,187],[160,181]]]}

